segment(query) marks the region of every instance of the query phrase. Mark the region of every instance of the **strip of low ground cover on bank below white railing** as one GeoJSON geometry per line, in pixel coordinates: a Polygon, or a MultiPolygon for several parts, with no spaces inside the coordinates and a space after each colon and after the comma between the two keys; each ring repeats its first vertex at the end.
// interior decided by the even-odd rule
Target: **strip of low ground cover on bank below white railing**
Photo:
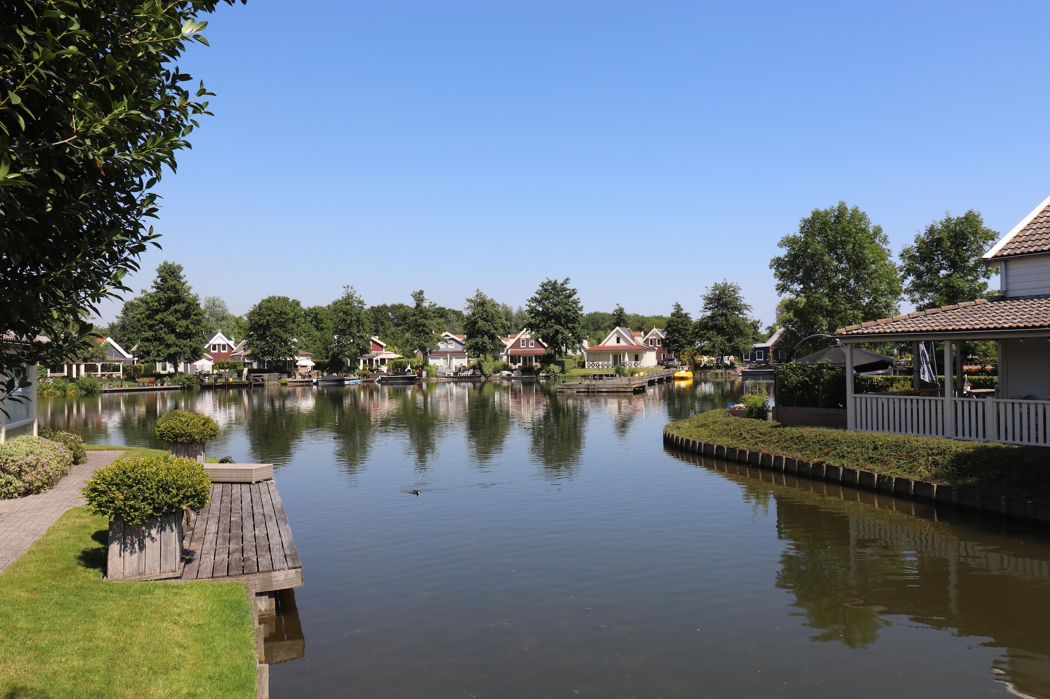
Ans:
{"type": "Polygon", "coordinates": [[[864,468],[888,476],[1050,500],[1050,449],[939,437],[909,437],[732,417],[713,410],[672,422],[673,434],[700,441],[864,468]]]}

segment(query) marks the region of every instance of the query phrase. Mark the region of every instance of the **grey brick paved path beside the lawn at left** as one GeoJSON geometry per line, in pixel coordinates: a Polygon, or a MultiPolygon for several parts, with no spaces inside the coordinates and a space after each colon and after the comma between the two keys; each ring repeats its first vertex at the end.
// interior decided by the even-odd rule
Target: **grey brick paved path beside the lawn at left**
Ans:
{"type": "Polygon", "coordinates": [[[94,469],[104,466],[124,452],[88,452],[87,461],[69,469],[47,493],[13,500],[0,500],[0,573],[18,556],[29,550],[33,542],[44,536],[47,527],[70,507],[83,505],[80,488],[94,469]]]}

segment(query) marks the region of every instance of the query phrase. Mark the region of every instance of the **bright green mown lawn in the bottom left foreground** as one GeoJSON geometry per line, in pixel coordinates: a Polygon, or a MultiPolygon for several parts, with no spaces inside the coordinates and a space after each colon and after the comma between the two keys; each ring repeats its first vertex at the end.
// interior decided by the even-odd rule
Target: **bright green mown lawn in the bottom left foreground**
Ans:
{"type": "Polygon", "coordinates": [[[106,537],[70,509],[0,574],[0,696],[255,697],[244,586],[104,582],[106,537]]]}

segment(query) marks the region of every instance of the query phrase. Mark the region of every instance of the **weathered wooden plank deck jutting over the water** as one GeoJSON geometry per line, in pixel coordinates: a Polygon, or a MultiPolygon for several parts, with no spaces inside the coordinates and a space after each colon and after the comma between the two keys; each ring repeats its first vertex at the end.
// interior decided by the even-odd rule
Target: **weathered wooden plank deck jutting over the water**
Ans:
{"type": "Polygon", "coordinates": [[[237,581],[255,593],[302,587],[302,564],[272,479],[212,484],[211,502],[187,517],[185,547],[183,581],[237,581]]]}

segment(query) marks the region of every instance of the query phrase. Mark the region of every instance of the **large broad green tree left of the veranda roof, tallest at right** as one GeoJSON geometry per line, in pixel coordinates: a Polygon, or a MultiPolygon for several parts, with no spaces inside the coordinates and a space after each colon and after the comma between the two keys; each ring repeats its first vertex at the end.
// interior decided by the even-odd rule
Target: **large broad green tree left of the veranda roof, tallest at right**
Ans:
{"type": "Polygon", "coordinates": [[[770,267],[777,293],[788,297],[789,342],[897,312],[901,279],[889,241],[857,206],[815,209],[777,245],[784,253],[770,267]]]}

